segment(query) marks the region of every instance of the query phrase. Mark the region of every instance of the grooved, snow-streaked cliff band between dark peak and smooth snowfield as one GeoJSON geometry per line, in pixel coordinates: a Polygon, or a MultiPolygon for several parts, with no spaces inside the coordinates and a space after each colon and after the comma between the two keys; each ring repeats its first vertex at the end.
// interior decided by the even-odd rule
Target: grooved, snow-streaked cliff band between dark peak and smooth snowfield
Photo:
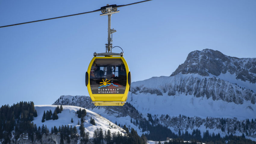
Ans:
{"type": "Polygon", "coordinates": [[[155,77],[141,82],[134,82],[131,91],[133,94],[156,94],[168,96],[194,95],[215,100],[243,104],[250,101],[255,104],[256,93],[237,84],[227,82],[217,77],[201,77],[195,75],[175,75],[171,77],[155,77]],[[157,82],[153,82],[157,81],[157,82]],[[155,85],[151,85],[154,83],[155,85]]]}

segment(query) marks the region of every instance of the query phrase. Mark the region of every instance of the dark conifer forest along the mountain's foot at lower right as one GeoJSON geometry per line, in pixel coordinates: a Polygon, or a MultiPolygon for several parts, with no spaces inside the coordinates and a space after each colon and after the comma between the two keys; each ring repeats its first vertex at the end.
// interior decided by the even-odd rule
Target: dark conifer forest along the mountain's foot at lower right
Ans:
{"type": "MultiPolygon", "coordinates": [[[[226,119],[222,119],[223,125],[226,123],[226,119]]],[[[253,119],[251,122],[247,119],[245,122],[245,129],[246,125],[250,127],[251,125],[254,125],[253,119]]],[[[219,143],[219,144],[225,144],[225,141],[228,141],[230,144],[235,143],[242,143],[242,144],[256,144],[256,142],[246,139],[245,134],[242,134],[242,136],[234,136],[233,134],[227,134],[225,137],[220,137],[220,133],[218,134],[210,134],[208,130],[206,130],[203,133],[203,137],[201,137],[201,131],[198,129],[194,129],[192,131],[192,134],[189,134],[188,131],[185,131],[185,133],[181,130],[178,131],[178,134],[175,134],[172,132],[169,128],[157,124],[157,122],[153,121],[151,114],[148,114],[148,120],[141,119],[139,121],[139,128],[142,129],[142,131],[149,131],[149,133],[144,134],[145,137],[147,137],[148,140],[154,140],[154,141],[164,141],[167,137],[170,137],[172,139],[176,140],[185,140],[185,141],[192,141],[192,142],[203,142],[203,143],[219,143]]],[[[168,144],[176,143],[177,141],[169,141],[168,144]]],[[[180,142],[181,143],[181,142],[180,142]]],[[[180,144],[179,143],[179,144],[180,144]]]]}

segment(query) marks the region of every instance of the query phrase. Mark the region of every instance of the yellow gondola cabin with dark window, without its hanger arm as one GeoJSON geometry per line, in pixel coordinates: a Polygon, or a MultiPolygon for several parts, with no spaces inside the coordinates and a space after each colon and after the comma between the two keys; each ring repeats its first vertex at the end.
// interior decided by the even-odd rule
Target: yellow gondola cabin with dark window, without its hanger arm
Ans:
{"type": "Polygon", "coordinates": [[[86,86],[95,106],[123,106],[131,83],[123,56],[93,57],[86,72],[86,86]]]}

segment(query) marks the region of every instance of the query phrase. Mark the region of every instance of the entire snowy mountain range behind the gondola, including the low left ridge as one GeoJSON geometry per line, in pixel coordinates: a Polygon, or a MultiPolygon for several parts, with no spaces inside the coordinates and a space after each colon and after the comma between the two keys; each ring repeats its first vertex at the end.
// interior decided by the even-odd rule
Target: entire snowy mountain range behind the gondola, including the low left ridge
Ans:
{"type": "Polygon", "coordinates": [[[131,119],[147,119],[176,134],[200,129],[221,136],[245,133],[254,139],[255,82],[256,58],[235,58],[204,49],[189,53],[171,76],[132,82],[123,107],[95,107],[85,96],[61,96],[54,104],[84,107],[117,124],[130,125],[139,134],[145,131],[131,119]]]}

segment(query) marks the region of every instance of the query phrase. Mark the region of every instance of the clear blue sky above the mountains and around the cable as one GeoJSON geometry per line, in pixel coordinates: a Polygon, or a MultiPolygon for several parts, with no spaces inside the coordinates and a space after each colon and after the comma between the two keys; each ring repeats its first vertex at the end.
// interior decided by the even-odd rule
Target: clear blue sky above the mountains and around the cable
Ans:
{"type": "MultiPolygon", "coordinates": [[[[133,2],[0,0],[0,26],[133,2]]],[[[111,17],[113,45],[124,50],[132,81],[170,76],[194,50],[255,58],[255,7],[255,0],[153,0],[120,7],[111,17]]],[[[99,14],[0,28],[0,105],[88,95],[85,72],[93,52],[104,52],[107,43],[107,16],[99,14]]]]}

